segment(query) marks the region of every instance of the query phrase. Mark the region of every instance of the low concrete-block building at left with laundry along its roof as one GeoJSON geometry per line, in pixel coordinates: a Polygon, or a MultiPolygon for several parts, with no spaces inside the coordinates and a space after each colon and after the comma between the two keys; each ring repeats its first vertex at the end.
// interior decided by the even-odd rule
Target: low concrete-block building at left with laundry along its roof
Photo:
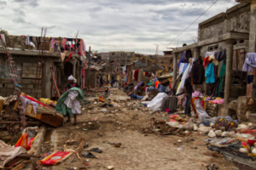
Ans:
{"type": "MultiPolygon", "coordinates": [[[[81,60],[79,54],[72,54],[72,57],[67,61],[63,60],[68,58],[67,52],[65,58],[61,59],[61,53],[51,51],[49,38],[46,38],[44,51],[44,61],[42,62],[41,74],[39,74],[40,66],[38,66],[39,50],[42,48],[37,45],[35,37],[32,37],[32,42],[36,47],[28,46],[25,44],[26,37],[22,36],[9,36],[6,35],[7,46],[9,47],[9,54],[11,54],[15,61],[15,66],[20,68],[21,71],[17,71],[16,75],[20,77],[18,83],[22,86],[20,90],[31,96],[37,96],[37,98],[50,98],[51,96],[51,71],[53,68],[55,73],[55,80],[59,87],[59,90],[64,89],[67,86],[67,77],[73,75],[80,83],[81,79],[81,60]],[[38,46],[38,47],[37,47],[38,46]],[[39,50],[38,50],[39,49],[39,50]],[[37,76],[38,70],[38,76],[37,76]],[[44,77],[44,79],[42,78],[44,77]],[[38,80],[38,81],[37,81],[38,80]]],[[[43,40],[41,40],[42,42],[43,40]]],[[[1,43],[2,41],[0,41],[1,43]]],[[[55,42],[60,44],[61,37],[55,37],[55,42]]],[[[5,61],[5,54],[3,53],[3,44],[0,44],[0,95],[9,96],[13,92],[13,83],[9,77],[8,65],[5,61]]],[[[52,92],[52,96],[54,96],[52,92]]]]}

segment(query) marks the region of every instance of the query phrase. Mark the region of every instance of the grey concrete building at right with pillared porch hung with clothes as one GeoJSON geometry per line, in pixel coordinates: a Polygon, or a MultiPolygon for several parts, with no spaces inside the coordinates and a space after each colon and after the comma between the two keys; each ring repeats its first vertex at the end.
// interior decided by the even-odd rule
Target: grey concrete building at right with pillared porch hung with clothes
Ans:
{"type": "MultiPolygon", "coordinates": [[[[256,5],[252,1],[236,0],[241,2],[232,8],[228,8],[225,13],[217,14],[212,18],[199,24],[198,42],[189,44],[182,48],[174,48],[172,53],[174,76],[177,77],[177,57],[180,52],[192,49],[194,59],[205,57],[207,51],[220,51],[226,49],[226,70],[224,79],[224,104],[228,105],[238,96],[252,97],[253,83],[247,87],[236,86],[233,84],[234,77],[232,72],[241,71],[247,53],[256,52],[256,5]],[[246,2],[246,3],[244,3],[246,2]]],[[[222,65],[221,61],[219,65],[222,65]]],[[[218,75],[221,66],[218,67],[218,75]]],[[[247,72],[253,75],[255,70],[247,72]]],[[[194,86],[196,89],[197,87],[194,86]]],[[[207,92],[207,85],[204,83],[207,92]]],[[[227,111],[226,113],[227,114],[227,111]]],[[[224,116],[224,114],[222,114],[224,116]]]]}

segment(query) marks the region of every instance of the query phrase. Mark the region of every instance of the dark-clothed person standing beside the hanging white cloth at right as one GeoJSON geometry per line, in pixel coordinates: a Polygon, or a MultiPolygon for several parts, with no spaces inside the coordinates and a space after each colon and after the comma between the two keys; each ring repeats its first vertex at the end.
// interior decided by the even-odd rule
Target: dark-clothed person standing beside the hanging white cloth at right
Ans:
{"type": "Polygon", "coordinates": [[[189,77],[186,78],[186,80],[185,80],[184,91],[185,91],[186,99],[187,99],[186,105],[185,105],[185,115],[191,116],[190,104],[191,104],[192,93],[194,93],[193,74],[191,71],[189,72],[189,77]]]}

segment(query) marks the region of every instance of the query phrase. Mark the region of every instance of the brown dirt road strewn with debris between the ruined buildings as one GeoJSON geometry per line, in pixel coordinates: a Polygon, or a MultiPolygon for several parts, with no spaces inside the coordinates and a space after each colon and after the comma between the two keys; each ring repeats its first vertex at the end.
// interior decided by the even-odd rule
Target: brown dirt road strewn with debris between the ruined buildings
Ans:
{"type": "MultiPolygon", "coordinates": [[[[125,94],[117,89],[112,89],[117,94],[109,96],[108,99],[125,99],[125,94]]],[[[123,104],[120,103],[119,105],[123,104]]],[[[87,105],[88,106],[88,105],[87,105]]],[[[87,107],[84,106],[85,108],[87,107]]],[[[125,106],[132,108],[133,106],[125,106]]],[[[86,167],[87,169],[108,169],[113,166],[114,169],[204,169],[211,163],[218,164],[219,169],[238,169],[232,162],[224,157],[206,156],[203,153],[207,151],[207,145],[204,139],[207,136],[192,135],[179,137],[177,135],[162,136],[159,133],[142,133],[141,127],[149,127],[149,120],[155,117],[158,120],[170,121],[168,115],[152,113],[152,111],[124,110],[114,111],[93,111],[84,109],[83,114],[79,116],[78,125],[68,122],[64,127],[49,128],[44,139],[42,152],[52,152],[63,150],[63,144],[69,139],[79,140],[84,137],[89,144],[81,152],[99,147],[103,150],[102,154],[93,153],[98,159],[90,159],[81,156],[82,161],[76,156],[70,156],[49,169],[62,170],[71,169],[71,167],[86,167]],[[90,111],[90,112],[89,112],[90,111]],[[181,139],[183,142],[178,143],[181,139]],[[121,146],[114,147],[109,143],[121,143],[121,146]],[[88,165],[86,165],[88,164],[88,165]]],[[[69,145],[70,149],[76,150],[77,144],[69,145]]]]}

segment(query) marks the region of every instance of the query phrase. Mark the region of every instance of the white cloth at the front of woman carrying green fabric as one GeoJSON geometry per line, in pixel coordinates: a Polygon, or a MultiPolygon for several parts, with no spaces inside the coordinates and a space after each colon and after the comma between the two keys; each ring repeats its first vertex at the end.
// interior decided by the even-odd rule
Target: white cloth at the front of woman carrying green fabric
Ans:
{"type": "Polygon", "coordinates": [[[67,99],[64,101],[64,104],[67,105],[68,108],[72,109],[73,114],[81,114],[81,105],[77,96],[79,95],[78,91],[71,90],[70,94],[68,94],[67,99]]]}

